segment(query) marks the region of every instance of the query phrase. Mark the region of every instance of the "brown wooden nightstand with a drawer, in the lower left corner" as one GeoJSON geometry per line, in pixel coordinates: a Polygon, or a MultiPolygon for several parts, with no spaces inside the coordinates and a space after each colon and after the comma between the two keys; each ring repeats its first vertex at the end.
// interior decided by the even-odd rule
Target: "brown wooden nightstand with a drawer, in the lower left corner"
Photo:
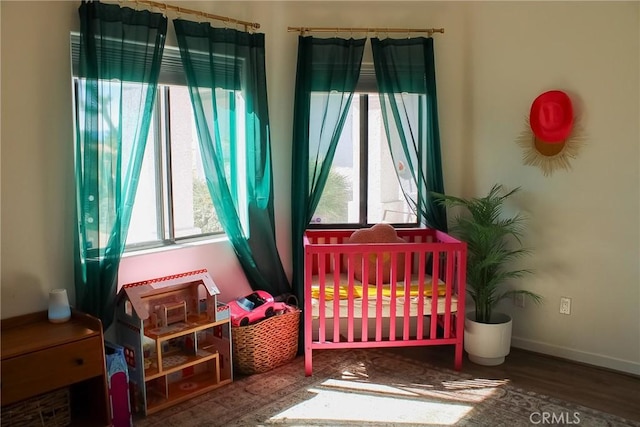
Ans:
{"type": "Polygon", "coordinates": [[[99,319],[77,311],[65,323],[50,323],[46,311],[2,319],[1,339],[3,408],[68,387],[72,425],[111,424],[99,319]]]}

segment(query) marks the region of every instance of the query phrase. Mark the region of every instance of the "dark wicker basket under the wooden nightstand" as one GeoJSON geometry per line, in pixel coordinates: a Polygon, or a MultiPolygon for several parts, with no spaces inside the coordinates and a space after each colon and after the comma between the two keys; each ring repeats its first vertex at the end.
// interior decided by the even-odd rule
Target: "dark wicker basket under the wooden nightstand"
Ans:
{"type": "Polygon", "coordinates": [[[2,408],[2,426],[68,426],[69,389],[61,388],[2,408]]]}

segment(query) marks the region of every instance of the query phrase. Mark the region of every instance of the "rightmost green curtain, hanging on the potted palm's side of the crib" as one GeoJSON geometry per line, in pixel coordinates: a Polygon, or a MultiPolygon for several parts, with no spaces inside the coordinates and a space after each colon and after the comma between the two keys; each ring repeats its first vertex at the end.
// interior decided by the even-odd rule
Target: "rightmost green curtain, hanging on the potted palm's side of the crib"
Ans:
{"type": "Polygon", "coordinates": [[[396,174],[421,224],[447,231],[433,38],[371,39],[382,116],[396,174]]]}

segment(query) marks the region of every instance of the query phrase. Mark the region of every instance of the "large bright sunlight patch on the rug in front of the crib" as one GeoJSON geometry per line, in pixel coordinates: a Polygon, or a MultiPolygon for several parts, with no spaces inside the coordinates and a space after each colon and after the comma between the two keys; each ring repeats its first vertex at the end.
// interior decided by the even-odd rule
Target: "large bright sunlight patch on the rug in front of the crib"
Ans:
{"type": "Polygon", "coordinates": [[[374,384],[367,390],[326,390],[309,389],[316,393],[305,400],[273,417],[271,421],[359,421],[363,423],[413,423],[455,425],[473,406],[460,403],[442,403],[401,397],[381,395],[388,386],[379,385],[378,393],[374,393],[374,384]]]}

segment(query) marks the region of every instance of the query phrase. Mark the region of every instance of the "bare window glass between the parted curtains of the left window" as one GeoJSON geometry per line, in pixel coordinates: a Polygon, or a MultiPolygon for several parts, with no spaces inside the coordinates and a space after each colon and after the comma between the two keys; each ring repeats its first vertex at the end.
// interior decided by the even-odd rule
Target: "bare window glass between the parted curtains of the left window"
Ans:
{"type": "Polygon", "coordinates": [[[127,245],[222,233],[204,175],[189,89],[160,85],[157,104],[127,245]]]}

